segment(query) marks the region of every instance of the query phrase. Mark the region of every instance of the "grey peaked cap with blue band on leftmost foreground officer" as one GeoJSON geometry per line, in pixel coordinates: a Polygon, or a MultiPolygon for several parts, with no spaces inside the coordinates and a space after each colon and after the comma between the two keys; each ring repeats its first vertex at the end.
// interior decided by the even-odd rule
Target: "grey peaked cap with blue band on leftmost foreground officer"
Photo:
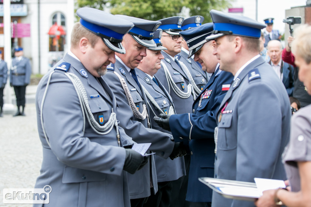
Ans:
{"type": "Polygon", "coordinates": [[[121,42],[124,34],[134,26],[132,22],[90,7],[78,9],[77,15],[81,17],[80,23],[84,28],[100,36],[113,51],[125,54],[121,42]]]}

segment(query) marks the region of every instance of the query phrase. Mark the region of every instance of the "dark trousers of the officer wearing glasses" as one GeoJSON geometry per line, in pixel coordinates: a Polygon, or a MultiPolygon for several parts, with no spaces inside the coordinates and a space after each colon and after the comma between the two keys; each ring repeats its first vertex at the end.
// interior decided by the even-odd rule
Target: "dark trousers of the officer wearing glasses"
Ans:
{"type": "Polygon", "coordinates": [[[186,175],[179,177],[178,180],[172,181],[173,188],[171,195],[171,206],[173,207],[190,207],[190,202],[186,201],[189,177],[188,175],[190,169],[190,156],[191,155],[183,156],[185,159],[186,175]]]}

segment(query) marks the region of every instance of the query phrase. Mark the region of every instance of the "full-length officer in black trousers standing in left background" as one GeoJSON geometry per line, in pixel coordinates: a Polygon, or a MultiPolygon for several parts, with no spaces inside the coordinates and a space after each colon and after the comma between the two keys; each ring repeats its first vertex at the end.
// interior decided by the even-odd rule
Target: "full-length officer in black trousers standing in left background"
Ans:
{"type": "Polygon", "coordinates": [[[10,71],[10,86],[14,88],[16,96],[17,112],[13,116],[25,116],[25,94],[26,86],[30,82],[31,67],[28,58],[23,57],[23,48],[16,47],[15,58],[12,59],[10,71]],[[20,111],[22,107],[22,112],[20,111]]]}

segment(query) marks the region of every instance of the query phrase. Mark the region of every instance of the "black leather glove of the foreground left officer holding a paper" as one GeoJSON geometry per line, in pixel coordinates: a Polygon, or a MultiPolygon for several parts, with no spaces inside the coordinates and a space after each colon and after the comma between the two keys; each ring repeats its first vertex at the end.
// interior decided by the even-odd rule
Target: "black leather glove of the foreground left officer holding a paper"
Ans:
{"type": "Polygon", "coordinates": [[[142,156],[135,150],[125,149],[125,162],[123,170],[134,174],[148,162],[148,158],[148,156],[142,156]]]}

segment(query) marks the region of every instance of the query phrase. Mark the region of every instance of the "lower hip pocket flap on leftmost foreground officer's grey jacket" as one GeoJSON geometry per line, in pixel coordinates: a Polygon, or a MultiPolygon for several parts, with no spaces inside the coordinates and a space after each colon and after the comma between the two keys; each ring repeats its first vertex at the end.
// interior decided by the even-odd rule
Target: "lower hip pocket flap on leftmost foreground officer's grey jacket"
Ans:
{"type": "Polygon", "coordinates": [[[78,183],[78,182],[93,182],[104,180],[106,180],[105,173],[65,166],[62,182],[78,183]]]}

